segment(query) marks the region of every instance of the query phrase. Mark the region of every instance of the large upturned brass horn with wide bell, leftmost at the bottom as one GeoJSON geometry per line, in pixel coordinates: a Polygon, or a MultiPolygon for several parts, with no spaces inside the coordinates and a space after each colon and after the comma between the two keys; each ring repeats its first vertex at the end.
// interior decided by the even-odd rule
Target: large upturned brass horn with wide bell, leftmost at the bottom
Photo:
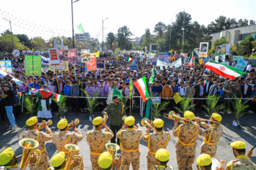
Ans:
{"type": "Polygon", "coordinates": [[[39,165],[39,161],[41,159],[41,151],[39,149],[35,149],[39,145],[39,143],[36,140],[24,138],[18,141],[18,145],[23,147],[21,164],[20,164],[21,169],[26,169],[26,166],[28,165],[28,159],[33,152],[39,153],[39,158],[37,162],[37,164],[39,165]]]}

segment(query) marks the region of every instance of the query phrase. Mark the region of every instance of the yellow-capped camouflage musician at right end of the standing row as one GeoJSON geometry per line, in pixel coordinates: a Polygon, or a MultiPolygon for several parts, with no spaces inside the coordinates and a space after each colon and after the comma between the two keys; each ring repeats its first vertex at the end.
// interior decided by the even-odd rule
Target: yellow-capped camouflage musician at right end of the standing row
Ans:
{"type": "Polygon", "coordinates": [[[221,135],[223,135],[223,128],[221,125],[222,117],[218,113],[213,113],[210,117],[210,125],[204,123],[201,124],[200,120],[196,120],[196,122],[206,128],[203,130],[199,129],[199,135],[203,137],[203,143],[201,145],[201,154],[210,154],[210,157],[215,157],[217,152],[217,142],[220,140],[221,135]]]}

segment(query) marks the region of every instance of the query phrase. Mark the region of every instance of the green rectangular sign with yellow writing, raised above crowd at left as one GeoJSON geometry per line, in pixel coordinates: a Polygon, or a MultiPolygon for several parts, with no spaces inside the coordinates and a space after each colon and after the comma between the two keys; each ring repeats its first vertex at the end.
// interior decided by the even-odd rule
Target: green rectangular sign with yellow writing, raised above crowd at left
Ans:
{"type": "Polygon", "coordinates": [[[25,75],[41,76],[41,56],[38,56],[38,55],[25,56],[25,75]]]}

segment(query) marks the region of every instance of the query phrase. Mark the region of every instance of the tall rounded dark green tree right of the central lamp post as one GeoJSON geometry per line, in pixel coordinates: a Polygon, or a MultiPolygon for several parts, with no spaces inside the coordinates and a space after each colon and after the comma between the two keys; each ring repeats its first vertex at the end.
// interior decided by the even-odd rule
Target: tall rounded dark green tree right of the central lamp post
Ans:
{"type": "Polygon", "coordinates": [[[120,49],[131,50],[132,43],[129,42],[129,37],[132,35],[132,32],[127,28],[127,26],[123,26],[117,30],[117,43],[120,49]]]}

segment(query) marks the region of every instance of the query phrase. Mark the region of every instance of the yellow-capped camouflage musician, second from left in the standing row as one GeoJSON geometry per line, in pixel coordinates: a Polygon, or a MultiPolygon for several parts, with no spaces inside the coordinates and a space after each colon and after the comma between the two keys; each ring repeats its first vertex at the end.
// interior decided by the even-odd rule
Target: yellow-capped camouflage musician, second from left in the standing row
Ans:
{"type": "MultiPolygon", "coordinates": [[[[55,132],[53,135],[53,144],[57,147],[57,152],[64,152],[65,157],[68,157],[68,150],[65,149],[65,145],[74,144],[78,145],[78,142],[82,140],[82,133],[79,132],[77,128],[75,128],[75,123],[68,124],[68,120],[63,118],[57,123],[58,132],[55,132]],[[73,129],[74,132],[70,132],[69,130],[73,129]]],[[[75,151],[73,155],[81,155],[79,150],[75,151]]],[[[83,169],[83,165],[82,165],[83,169]]],[[[81,169],[80,169],[81,170],[81,169]]]]}

